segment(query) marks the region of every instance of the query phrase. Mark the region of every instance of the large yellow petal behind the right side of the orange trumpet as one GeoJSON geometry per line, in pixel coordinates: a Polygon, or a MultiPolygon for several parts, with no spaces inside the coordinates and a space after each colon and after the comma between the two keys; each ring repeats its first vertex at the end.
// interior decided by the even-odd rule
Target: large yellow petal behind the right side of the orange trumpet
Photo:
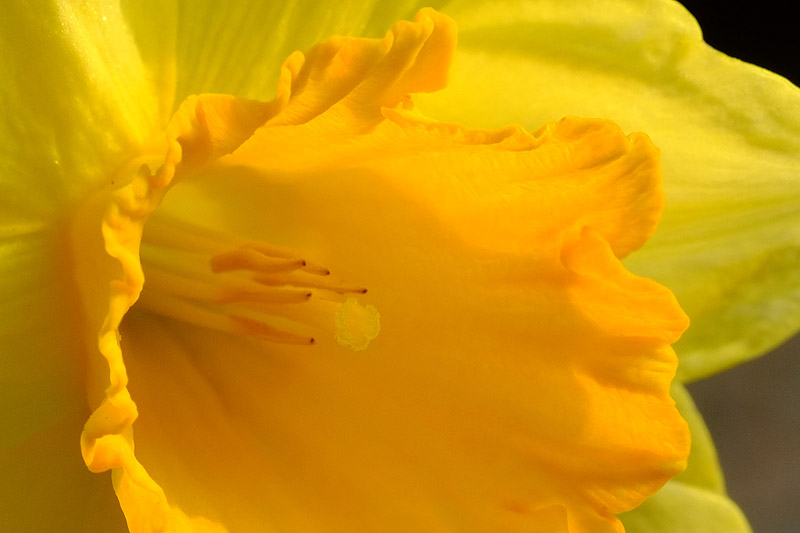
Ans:
{"type": "Polygon", "coordinates": [[[676,346],[696,379],[759,355],[800,323],[800,90],[711,49],[677,2],[453,1],[460,28],[445,120],[537,127],[601,116],[663,155],[658,233],[627,265],[692,317],[676,346]]]}

